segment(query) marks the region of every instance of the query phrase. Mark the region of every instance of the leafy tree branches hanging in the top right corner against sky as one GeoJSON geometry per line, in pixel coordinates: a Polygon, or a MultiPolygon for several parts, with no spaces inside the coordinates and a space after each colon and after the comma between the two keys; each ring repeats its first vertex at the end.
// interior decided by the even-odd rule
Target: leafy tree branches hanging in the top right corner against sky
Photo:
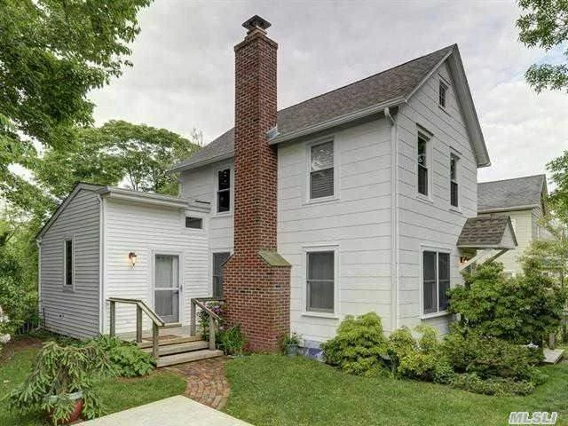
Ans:
{"type": "Polygon", "coordinates": [[[559,64],[533,64],[526,80],[537,92],[543,89],[568,91],[568,1],[518,0],[523,10],[517,20],[520,40],[528,47],[550,50],[564,48],[564,61],[559,64]]]}

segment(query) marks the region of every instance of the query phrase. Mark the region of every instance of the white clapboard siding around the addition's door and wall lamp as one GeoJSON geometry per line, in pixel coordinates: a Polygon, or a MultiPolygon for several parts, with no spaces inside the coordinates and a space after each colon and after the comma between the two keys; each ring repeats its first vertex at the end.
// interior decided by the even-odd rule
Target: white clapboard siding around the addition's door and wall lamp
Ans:
{"type": "MultiPolygon", "coordinates": [[[[108,297],[132,297],[154,306],[155,255],[177,255],[180,282],[183,283],[180,320],[189,323],[190,299],[209,296],[208,220],[203,230],[185,228],[182,209],[154,207],[147,204],[105,199],[105,300],[108,297]],[[128,255],[137,254],[137,264],[130,266],[128,255]]],[[[203,213],[191,216],[206,217],[203,213]]],[[[105,301],[105,332],[109,329],[108,303],[105,301]]],[[[135,331],[135,308],[117,304],[116,331],[135,331]]],[[[145,327],[149,327],[146,320],[145,327]]]]}

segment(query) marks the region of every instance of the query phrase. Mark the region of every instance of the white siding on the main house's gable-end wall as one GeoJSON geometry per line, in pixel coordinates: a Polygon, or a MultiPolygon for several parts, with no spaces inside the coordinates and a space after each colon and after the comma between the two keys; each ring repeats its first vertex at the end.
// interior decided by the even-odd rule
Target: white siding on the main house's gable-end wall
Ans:
{"type": "MultiPolygon", "coordinates": [[[[477,166],[469,136],[455,98],[446,64],[398,111],[398,233],[399,312],[398,327],[414,327],[422,318],[421,249],[451,251],[452,286],[461,282],[456,242],[467,217],[477,216],[477,166]],[[440,75],[450,87],[446,110],[438,106],[440,75]],[[418,126],[428,130],[430,139],[430,200],[417,195],[418,126]],[[459,204],[450,208],[450,154],[457,154],[459,204]]],[[[447,317],[424,319],[446,331],[447,317]]]]}

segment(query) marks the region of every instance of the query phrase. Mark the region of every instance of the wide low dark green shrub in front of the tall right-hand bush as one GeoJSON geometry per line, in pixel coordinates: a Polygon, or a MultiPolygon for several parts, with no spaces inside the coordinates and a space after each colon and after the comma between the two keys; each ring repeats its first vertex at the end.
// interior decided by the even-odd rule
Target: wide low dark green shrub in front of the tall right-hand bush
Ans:
{"type": "Polygon", "coordinates": [[[540,382],[536,377],[539,370],[534,366],[541,358],[525,346],[477,333],[463,335],[459,327],[452,327],[444,346],[446,357],[458,373],[475,373],[482,379],[540,382]]]}

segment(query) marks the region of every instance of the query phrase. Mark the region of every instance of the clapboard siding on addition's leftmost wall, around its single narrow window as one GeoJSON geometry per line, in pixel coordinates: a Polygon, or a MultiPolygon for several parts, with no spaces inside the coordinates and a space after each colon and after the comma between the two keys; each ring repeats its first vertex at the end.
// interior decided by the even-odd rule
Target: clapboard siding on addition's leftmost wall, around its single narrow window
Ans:
{"type": "Polygon", "coordinates": [[[40,314],[45,327],[77,338],[99,333],[99,200],[82,189],[43,235],[40,314]],[[73,239],[75,283],[64,288],[64,241],[73,239]]]}

